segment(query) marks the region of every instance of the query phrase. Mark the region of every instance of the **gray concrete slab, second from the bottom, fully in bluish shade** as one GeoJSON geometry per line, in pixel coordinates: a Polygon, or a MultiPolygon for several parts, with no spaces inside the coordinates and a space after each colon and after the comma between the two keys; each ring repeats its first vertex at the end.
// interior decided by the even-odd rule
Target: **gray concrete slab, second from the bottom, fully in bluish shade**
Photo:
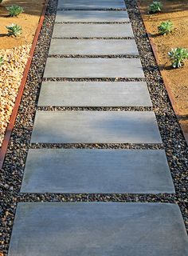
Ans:
{"type": "Polygon", "coordinates": [[[29,150],[22,193],[174,193],[164,150],[29,150]]]}

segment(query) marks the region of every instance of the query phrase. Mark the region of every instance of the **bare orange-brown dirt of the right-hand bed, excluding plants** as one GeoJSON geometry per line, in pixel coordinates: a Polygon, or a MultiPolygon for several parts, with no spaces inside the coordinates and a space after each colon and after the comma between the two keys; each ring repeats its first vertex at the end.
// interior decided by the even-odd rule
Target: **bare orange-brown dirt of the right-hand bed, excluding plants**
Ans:
{"type": "Polygon", "coordinates": [[[181,69],[173,69],[167,53],[171,48],[188,49],[188,0],[163,0],[163,11],[159,14],[148,14],[148,6],[152,0],[139,0],[141,14],[151,40],[157,50],[158,62],[165,76],[174,101],[174,111],[178,116],[184,135],[188,142],[188,60],[181,69]],[[159,35],[158,26],[161,22],[170,20],[174,24],[173,33],[159,35]]]}

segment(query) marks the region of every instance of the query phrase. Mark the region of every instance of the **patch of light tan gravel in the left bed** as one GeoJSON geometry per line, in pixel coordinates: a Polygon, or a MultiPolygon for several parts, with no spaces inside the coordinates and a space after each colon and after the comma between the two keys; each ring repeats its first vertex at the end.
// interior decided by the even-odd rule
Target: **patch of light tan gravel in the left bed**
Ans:
{"type": "Polygon", "coordinates": [[[0,147],[9,123],[31,45],[0,50],[5,60],[0,67],[0,147]]]}

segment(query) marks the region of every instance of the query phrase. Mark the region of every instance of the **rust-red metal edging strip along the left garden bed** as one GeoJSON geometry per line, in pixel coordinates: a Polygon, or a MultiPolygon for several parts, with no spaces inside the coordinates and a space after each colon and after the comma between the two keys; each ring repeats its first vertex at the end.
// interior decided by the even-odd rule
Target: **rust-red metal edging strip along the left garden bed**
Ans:
{"type": "Polygon", "coordinates": [[[2,169],[2,165],[3,165],[3,162],[4,162],[5,156],[6,156],[6,150],[8,148],[9,142],[10,142],[10,136],[11,136],[11,133],[14,129],[14,123],[15,123],[15,120],[16,120],[16,117],[17,117],[17,114],[18,114],[18,109],[19,109],[20,102],[21,102],[21,99],[22,99],[23,90],[25,88],[25,82],[27,80],[27,76],[28,76],[28,73],[29,73],[29,68],[30,68],[30,65],[31,65],[31,62],[32,62],[34,50],[35,50],[35,47],[37,46],[37,40],[38,40],[39,34],[41,32],[42,24],[43,24],[44,19],[45,19],[45,11],[46,11],[48,2],[49,2],[49,0],[45,0],[45,4],[44,4],[43,9],[41,11],[41,17],[40,17],[39,22],[38,22],[37,30],[36,30],[34,38],[33,38],[33,43],[32,43],[31,49],[29,51],[29,58],[27,60],[26,66],[25,66],[25,70],[24,70],[23,77],[22,77],[22,82],[21,82],[19,90],[18,90],[18,95],[17,95],[16,101],[14,103],[14,109],[13,109],[12,114],[10,116],[10,122],[9,122],[8,126],[6,127],[5,137],[2,141],[2,148],[0,150],[0,169],[2,169]]]}

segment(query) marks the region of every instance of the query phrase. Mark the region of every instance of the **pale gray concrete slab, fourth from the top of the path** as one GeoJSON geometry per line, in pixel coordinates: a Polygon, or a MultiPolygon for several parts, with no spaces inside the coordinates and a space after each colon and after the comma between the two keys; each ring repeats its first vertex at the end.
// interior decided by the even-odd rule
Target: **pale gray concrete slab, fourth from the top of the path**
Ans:
{"type": "Polygon", "coordinates": [[[49,54],[63,55],[138,55],[134,39],[52,39],[49,54]]]}

